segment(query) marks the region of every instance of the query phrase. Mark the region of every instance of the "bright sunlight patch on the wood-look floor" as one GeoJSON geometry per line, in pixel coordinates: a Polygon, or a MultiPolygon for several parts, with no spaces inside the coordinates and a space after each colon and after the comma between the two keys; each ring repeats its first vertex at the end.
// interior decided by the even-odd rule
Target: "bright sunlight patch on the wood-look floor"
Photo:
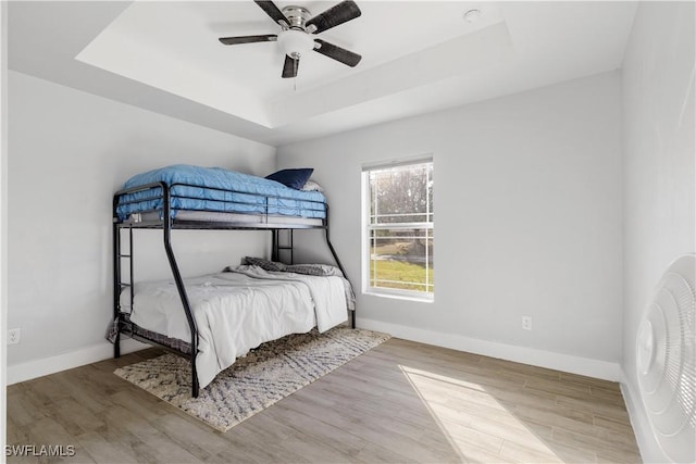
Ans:
{"type": "Polygon", "coordinates": [[[399,368],[462,461],[564,462],[480,384],[399,368]]]}

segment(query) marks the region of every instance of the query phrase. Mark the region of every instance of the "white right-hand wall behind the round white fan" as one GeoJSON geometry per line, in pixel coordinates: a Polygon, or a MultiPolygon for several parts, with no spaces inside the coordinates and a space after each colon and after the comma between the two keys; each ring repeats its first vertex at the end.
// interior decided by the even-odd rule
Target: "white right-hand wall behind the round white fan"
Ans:
{"type": "Polygon", "coordinates": [[[662,273],[696,251],[694,2],[642,2],[623,62],[626,394],[644,460],[664,462],[641,404],[639,321],[662,273]]]}

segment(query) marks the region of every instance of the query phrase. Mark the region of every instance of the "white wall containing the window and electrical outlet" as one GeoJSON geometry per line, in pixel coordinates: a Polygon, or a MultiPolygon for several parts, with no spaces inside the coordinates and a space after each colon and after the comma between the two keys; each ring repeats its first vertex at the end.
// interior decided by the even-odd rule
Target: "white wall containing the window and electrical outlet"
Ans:
{"type": "Polygon", "coordinates": [[[279,147],[278,167],[316,170],[360,286],[361,165],[433,153],[435,302],[359,294],[361,325],[618,379],[620,96],[602,74],[279,147]]]}

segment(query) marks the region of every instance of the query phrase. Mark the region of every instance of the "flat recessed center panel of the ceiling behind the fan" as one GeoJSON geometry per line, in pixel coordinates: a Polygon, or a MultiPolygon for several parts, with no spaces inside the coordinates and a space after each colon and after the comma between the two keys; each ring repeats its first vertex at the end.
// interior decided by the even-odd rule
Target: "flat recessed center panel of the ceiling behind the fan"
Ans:
{"type": "MultiPolygon", "coordinates": [[[[281,9],[298,3],[315,15],[337,2],[276,2],[281,9]]],[[[315,36],[361,54],[362,61],[355,68],[320,53],[308,53],[300,60],[298,76],[284,79],[281,72],[285,55],[277,42],[220,43],[219,37],[281,32],[252,1],[134,2],[76,59],[273,127],[274,122],[293,117],[287,108],[282,115],[274,115],[274,108],[278,108],[274,102],[335,81],[350,81],[368,70],[384,68],[386,63],[401,57],[502,21],[496,4],[375,1],[358,4],[360,17],[315,36]],[[469,23],[463,13],[471,9],[482,9],[485,14],[478,22],[469,23]]],[[[443,55],[440,60],[450,61],[451,57],[443,55]]],[[[345,92],[336,93],[340,101],[345,97],[345,92]]]]}

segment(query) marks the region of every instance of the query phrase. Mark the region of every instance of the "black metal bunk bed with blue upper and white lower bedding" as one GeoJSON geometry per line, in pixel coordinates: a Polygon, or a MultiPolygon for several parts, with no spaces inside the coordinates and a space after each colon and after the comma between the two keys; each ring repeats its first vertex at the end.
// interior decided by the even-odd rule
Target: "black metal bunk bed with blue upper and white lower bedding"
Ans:
{"type": "Polygon", "coordinates": [[[121,354],[122,335],[185,356],[191,363],[191,394],[198,397],[235,355],[270,336],[313,326],[325,330],[345,322],[348,313],[355,328],[355,297],[330,239],[326,199],[320,191],[299,189],[308,172],[285,170],[261,178],[217,167],[172,165],[126,181],[113,196],[114,358],[121,354]],[[134,234],[139,229],[162,230],[173,281],[134,280],[134,234]],[[247,265],[184,279],[172,247],[175,229],[268,230],[271,260],[249,259],[247,265]],[[294,233],[308,229],[323,230],[336,266],[294,263],[294,233]],[[211,300],[222,303],[207,305],[203,312],[200,305],[211,300]],[[265,302],[260,309],[245,308],[259,301],[265,302]],[[148,313],[150,309],[154,313],[148,313]],[[264,317],[277,317],[271,321],[272,330],[246,327],[248,321],[253,325],[264,317]],[[225,325],[227,330],[221,330],[225,325]]]}

